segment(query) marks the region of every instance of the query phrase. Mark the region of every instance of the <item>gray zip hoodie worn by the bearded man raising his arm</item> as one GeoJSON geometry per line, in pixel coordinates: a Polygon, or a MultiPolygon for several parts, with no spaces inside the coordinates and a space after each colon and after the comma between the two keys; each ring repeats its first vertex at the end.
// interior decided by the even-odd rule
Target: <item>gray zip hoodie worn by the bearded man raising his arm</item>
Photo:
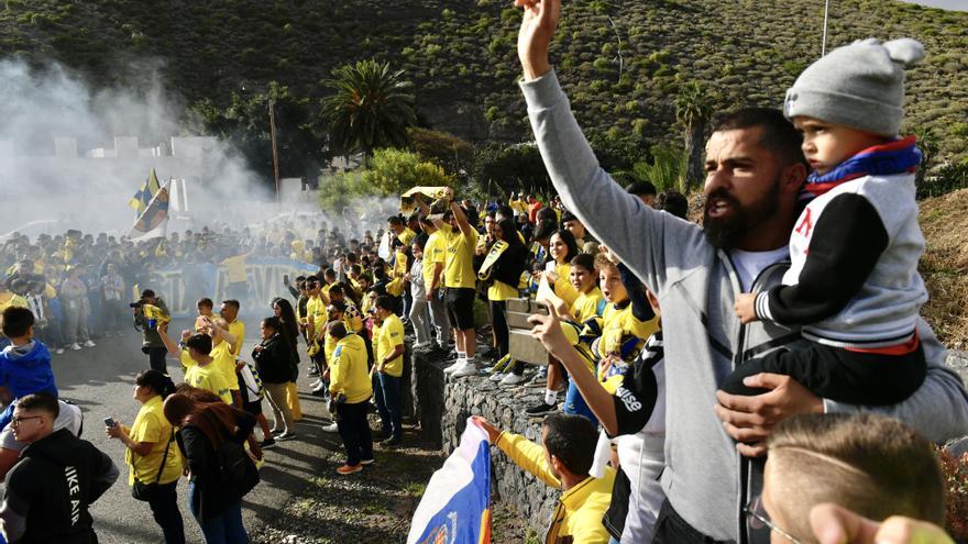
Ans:
{"type": "MultiPolygon", "coordinates": [[[[739,323],[733,303],[743,289],[729,254],[706,242],[698,225],[646,207],[602,170],[554,73],[521,82],[521,90],[562,202],[642,279],[662,307],[666,496],[685,521],[707,536],[748,542],[741,508],[759,492],[762,460],[749,462],[737,454],[713,411],[716,389],[744,360],[806,341],[799,331],[771,322],[739,323]]],[[[768,266],[752,290],[778,285],[788,267],[789,263],[768,266]]],[[[944,346],[923,320],[919,333],[928,371],[913,396],[876,409],[825,399],[825,410],[877,411],[933,441],[968,434],[968,393],[958,375],[944,366],[944,346]]],[[[755,535],[752,542],[761,537],[755,535]]]]}

